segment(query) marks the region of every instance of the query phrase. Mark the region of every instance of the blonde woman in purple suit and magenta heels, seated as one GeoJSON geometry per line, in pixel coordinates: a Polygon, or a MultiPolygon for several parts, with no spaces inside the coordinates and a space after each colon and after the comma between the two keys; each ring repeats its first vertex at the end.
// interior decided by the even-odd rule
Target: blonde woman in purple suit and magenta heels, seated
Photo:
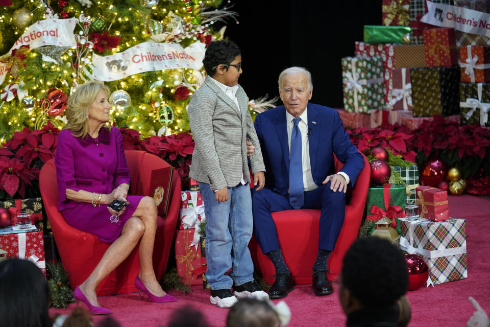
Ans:
{"type": "MultiPolygon", "coordinates": [[[[129,169],[120,131],[109,121],[109,88],[103,82],[80,85],[68,99],[67,123],[58,136],[55,164],[58,208],[71,226],[111,243],[90,276],[75,289],[75,299],[94,314],[101,308],[95,289],[134,249],[138,241],[141,269],[135,287],[154,302],[177,300],[157,281],[152,263],[157,207],[151,197],[128,195],[129,169]],[[129,201],[121,211],[113,200],[129,201]]],[[[127,203],[127,202],[126,202],[127,203]]]]}

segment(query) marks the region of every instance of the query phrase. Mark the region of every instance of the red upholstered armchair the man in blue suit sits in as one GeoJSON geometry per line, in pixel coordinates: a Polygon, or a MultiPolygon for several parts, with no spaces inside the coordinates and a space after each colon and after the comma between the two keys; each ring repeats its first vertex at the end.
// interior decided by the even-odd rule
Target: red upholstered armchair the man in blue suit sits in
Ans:
{"type": "MultiPolygon", "coordinates": [[[[335,171],[338,172],[342,166],[341,162],[335,158],[335,171]]],[[[328,274],[330,280],[340,272],[344,254],[359,233],[370,175],[370,165],[364,157],[364,168],[352,189],[350,199],[348,197],[344,225],[342,225],[335,249],[328,260],[328,269],[331,271],[328,274]]],[[[272,218],[276,223],[284,261],[295,278],[296,284],[311,284],[311,267],[316,260],[318,250],[320,210],[278,211],[272,214],[272,218]]],[[[265,281],[272,285],[274,283],[273,275],[276,273],[274,266],[267,256],[262,254],[255,237],[250,241],[249,248],[256,268],[260,270],[265,281]]]]}

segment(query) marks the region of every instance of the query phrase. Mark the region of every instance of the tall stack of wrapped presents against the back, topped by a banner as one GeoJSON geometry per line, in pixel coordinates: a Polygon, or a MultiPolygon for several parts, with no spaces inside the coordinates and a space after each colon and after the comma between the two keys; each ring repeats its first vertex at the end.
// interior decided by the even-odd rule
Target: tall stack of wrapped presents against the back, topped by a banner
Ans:
{"type": "Polygon", "coordinates": [[[490,126],[490,37],[425,24],[429,2],[490,13],[487,0],[383,0],[383,25],[342,58],[346,127],[416,129],[433,115],[490,126]]]}

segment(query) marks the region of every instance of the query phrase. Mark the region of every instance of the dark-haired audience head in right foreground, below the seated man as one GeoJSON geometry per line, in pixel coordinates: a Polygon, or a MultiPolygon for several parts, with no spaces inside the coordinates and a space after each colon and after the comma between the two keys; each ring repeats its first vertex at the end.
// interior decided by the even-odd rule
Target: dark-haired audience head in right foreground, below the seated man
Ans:
{"type": "Polygon", "coordinates": [[[399,249],[377,237],[357,239],[346,252],[339,275],[338,296],[347,325],[408,323],[407,286],[408,272],[399,249]]]}

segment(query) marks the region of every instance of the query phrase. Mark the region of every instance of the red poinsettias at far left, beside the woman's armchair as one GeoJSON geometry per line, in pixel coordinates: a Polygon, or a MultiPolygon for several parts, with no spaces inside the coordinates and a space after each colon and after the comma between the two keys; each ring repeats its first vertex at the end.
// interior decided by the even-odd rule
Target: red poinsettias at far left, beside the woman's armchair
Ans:
{"type": "Polygon", "coordinates": [[[40,130],[15,132],[0,148],[0,198],[40,196],[39,171],[55,155],[59,130],[48,122],[40,130]]]}

